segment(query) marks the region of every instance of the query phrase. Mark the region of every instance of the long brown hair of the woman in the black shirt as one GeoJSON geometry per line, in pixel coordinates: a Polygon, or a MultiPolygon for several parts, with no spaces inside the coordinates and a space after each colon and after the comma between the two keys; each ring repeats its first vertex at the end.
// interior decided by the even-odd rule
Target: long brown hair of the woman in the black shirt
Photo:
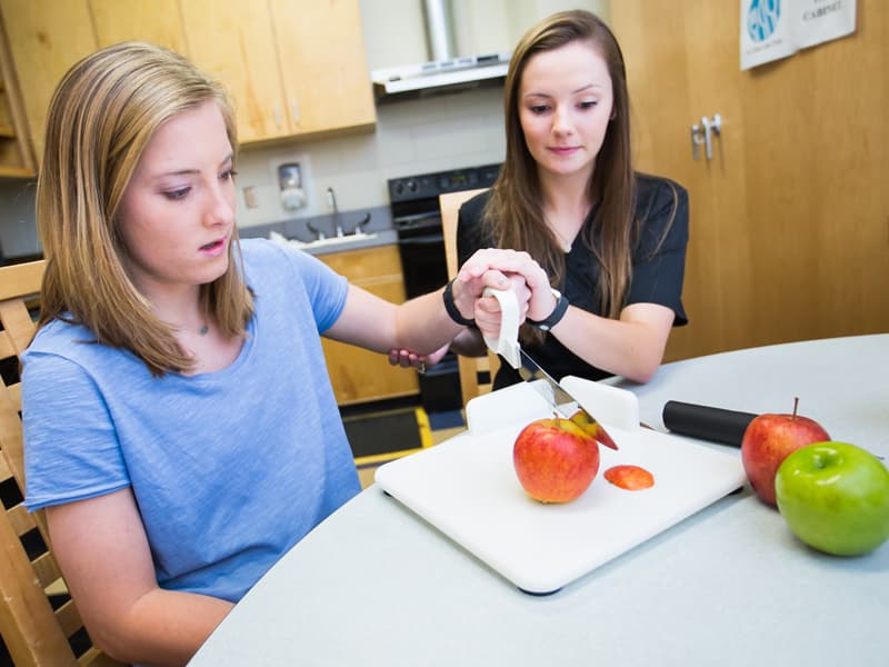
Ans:
{"type": "Polygon", "coordinates": [[[528,61],[536,54],[583,41],[605,59],[613,89],[613,118],[596,159],[589,182],[590,201],[598,202],[596,229],[583,242],[600,263],[595,297],[602,313],[617,318],[632,270],[635,178],[630,155],[630,115],[623,56],[611,30],[583,11],[556,13],[532,27],[519,41],[507,73],[503,107],[507,152],[485,210],[501,248],[527,250],[540,262],[553,286],[565,276],[565,256],[543,219],[537,162],[525,141],[519,120],[519,88],[528,61]]]}

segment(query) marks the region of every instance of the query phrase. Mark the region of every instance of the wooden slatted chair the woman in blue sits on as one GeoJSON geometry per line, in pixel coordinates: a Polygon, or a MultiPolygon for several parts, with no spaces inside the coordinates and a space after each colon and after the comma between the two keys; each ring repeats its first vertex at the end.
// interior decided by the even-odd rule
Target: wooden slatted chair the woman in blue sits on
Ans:
{"type": "Polygon", "coordinates": [[[34,332],[44,262],[0,267],[0,664],[111,667],[92,646],[52,554],[43,511],[28,512],[19,358],[34,332]]]}

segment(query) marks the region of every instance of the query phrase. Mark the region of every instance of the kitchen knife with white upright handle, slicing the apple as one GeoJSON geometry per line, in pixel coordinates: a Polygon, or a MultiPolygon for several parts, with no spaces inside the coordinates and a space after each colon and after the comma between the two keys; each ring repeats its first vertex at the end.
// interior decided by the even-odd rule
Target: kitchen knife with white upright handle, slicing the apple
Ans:
{"type": "Polygon", "coordinates": [[[501,320],[498,338],[485,337],[485,344],[519,371],[519,376],[530,382],[535,390],[552,406],[557,414],[577,424],[599,442],[611,449],[618,446],[592,415],[590,415],[559,382],[543,370],[519,345],[519,303],[510,289],[485,289],[485,296],[495,297],[500,302],[501,320]],[[535,380],[542,380],[538,382],[535,380]]]}

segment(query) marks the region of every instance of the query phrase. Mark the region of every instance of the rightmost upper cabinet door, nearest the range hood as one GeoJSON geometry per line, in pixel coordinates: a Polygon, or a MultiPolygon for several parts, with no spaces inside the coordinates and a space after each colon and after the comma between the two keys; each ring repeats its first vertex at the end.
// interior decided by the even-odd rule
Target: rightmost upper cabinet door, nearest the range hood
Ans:
{"type": "Polygon", "coordinates": [[[271,0],[271,16],[293,132],[372,126],[358,0],[271,0]]]}

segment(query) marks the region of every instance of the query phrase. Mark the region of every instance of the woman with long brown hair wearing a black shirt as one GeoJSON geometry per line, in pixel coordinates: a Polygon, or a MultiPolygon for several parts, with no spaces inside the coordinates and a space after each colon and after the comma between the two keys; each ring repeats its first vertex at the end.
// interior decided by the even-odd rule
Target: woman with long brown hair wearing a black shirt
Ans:
{"type": "MultiPolygon", "coordinates": [[[[492,247],[540,262],[555,291],[547,316],[526,321],[521,339],[551,376],[649,380],[671,327],[687,322],[688,196],[633,170],[623,57],[608,27],[576,10],[531,28],[512,53],[505,112],[500,176],[460,209],[460,261],[492,247]]],[[[496,313],[496,301],[480,309],[476,321],[490,326],[483,313],[496,313]]],[[[472,327],[451,347],[483,351],[472,327]]],[[[501,364],[495,388],[518,380],[501,364]]]]}

